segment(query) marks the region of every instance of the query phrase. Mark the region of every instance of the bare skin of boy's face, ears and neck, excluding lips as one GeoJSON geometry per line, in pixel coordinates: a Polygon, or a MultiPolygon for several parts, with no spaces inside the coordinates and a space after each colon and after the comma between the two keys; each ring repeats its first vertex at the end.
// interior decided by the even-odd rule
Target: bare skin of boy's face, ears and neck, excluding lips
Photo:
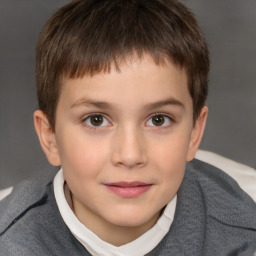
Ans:
{"type": "Polygon", "coordinates": [[[55,132],[42,111],[34,113],[49,162],[63,168],[75,215],[116,246],[149,230],[177,193],[208,112],[204,107],[193,124],[186,72],[170,62],[156,65],[145,55],[120,69],[64,79],[55,132]],[[149,189],[124,197],[108,186],[121,181],[149,189]]]}

